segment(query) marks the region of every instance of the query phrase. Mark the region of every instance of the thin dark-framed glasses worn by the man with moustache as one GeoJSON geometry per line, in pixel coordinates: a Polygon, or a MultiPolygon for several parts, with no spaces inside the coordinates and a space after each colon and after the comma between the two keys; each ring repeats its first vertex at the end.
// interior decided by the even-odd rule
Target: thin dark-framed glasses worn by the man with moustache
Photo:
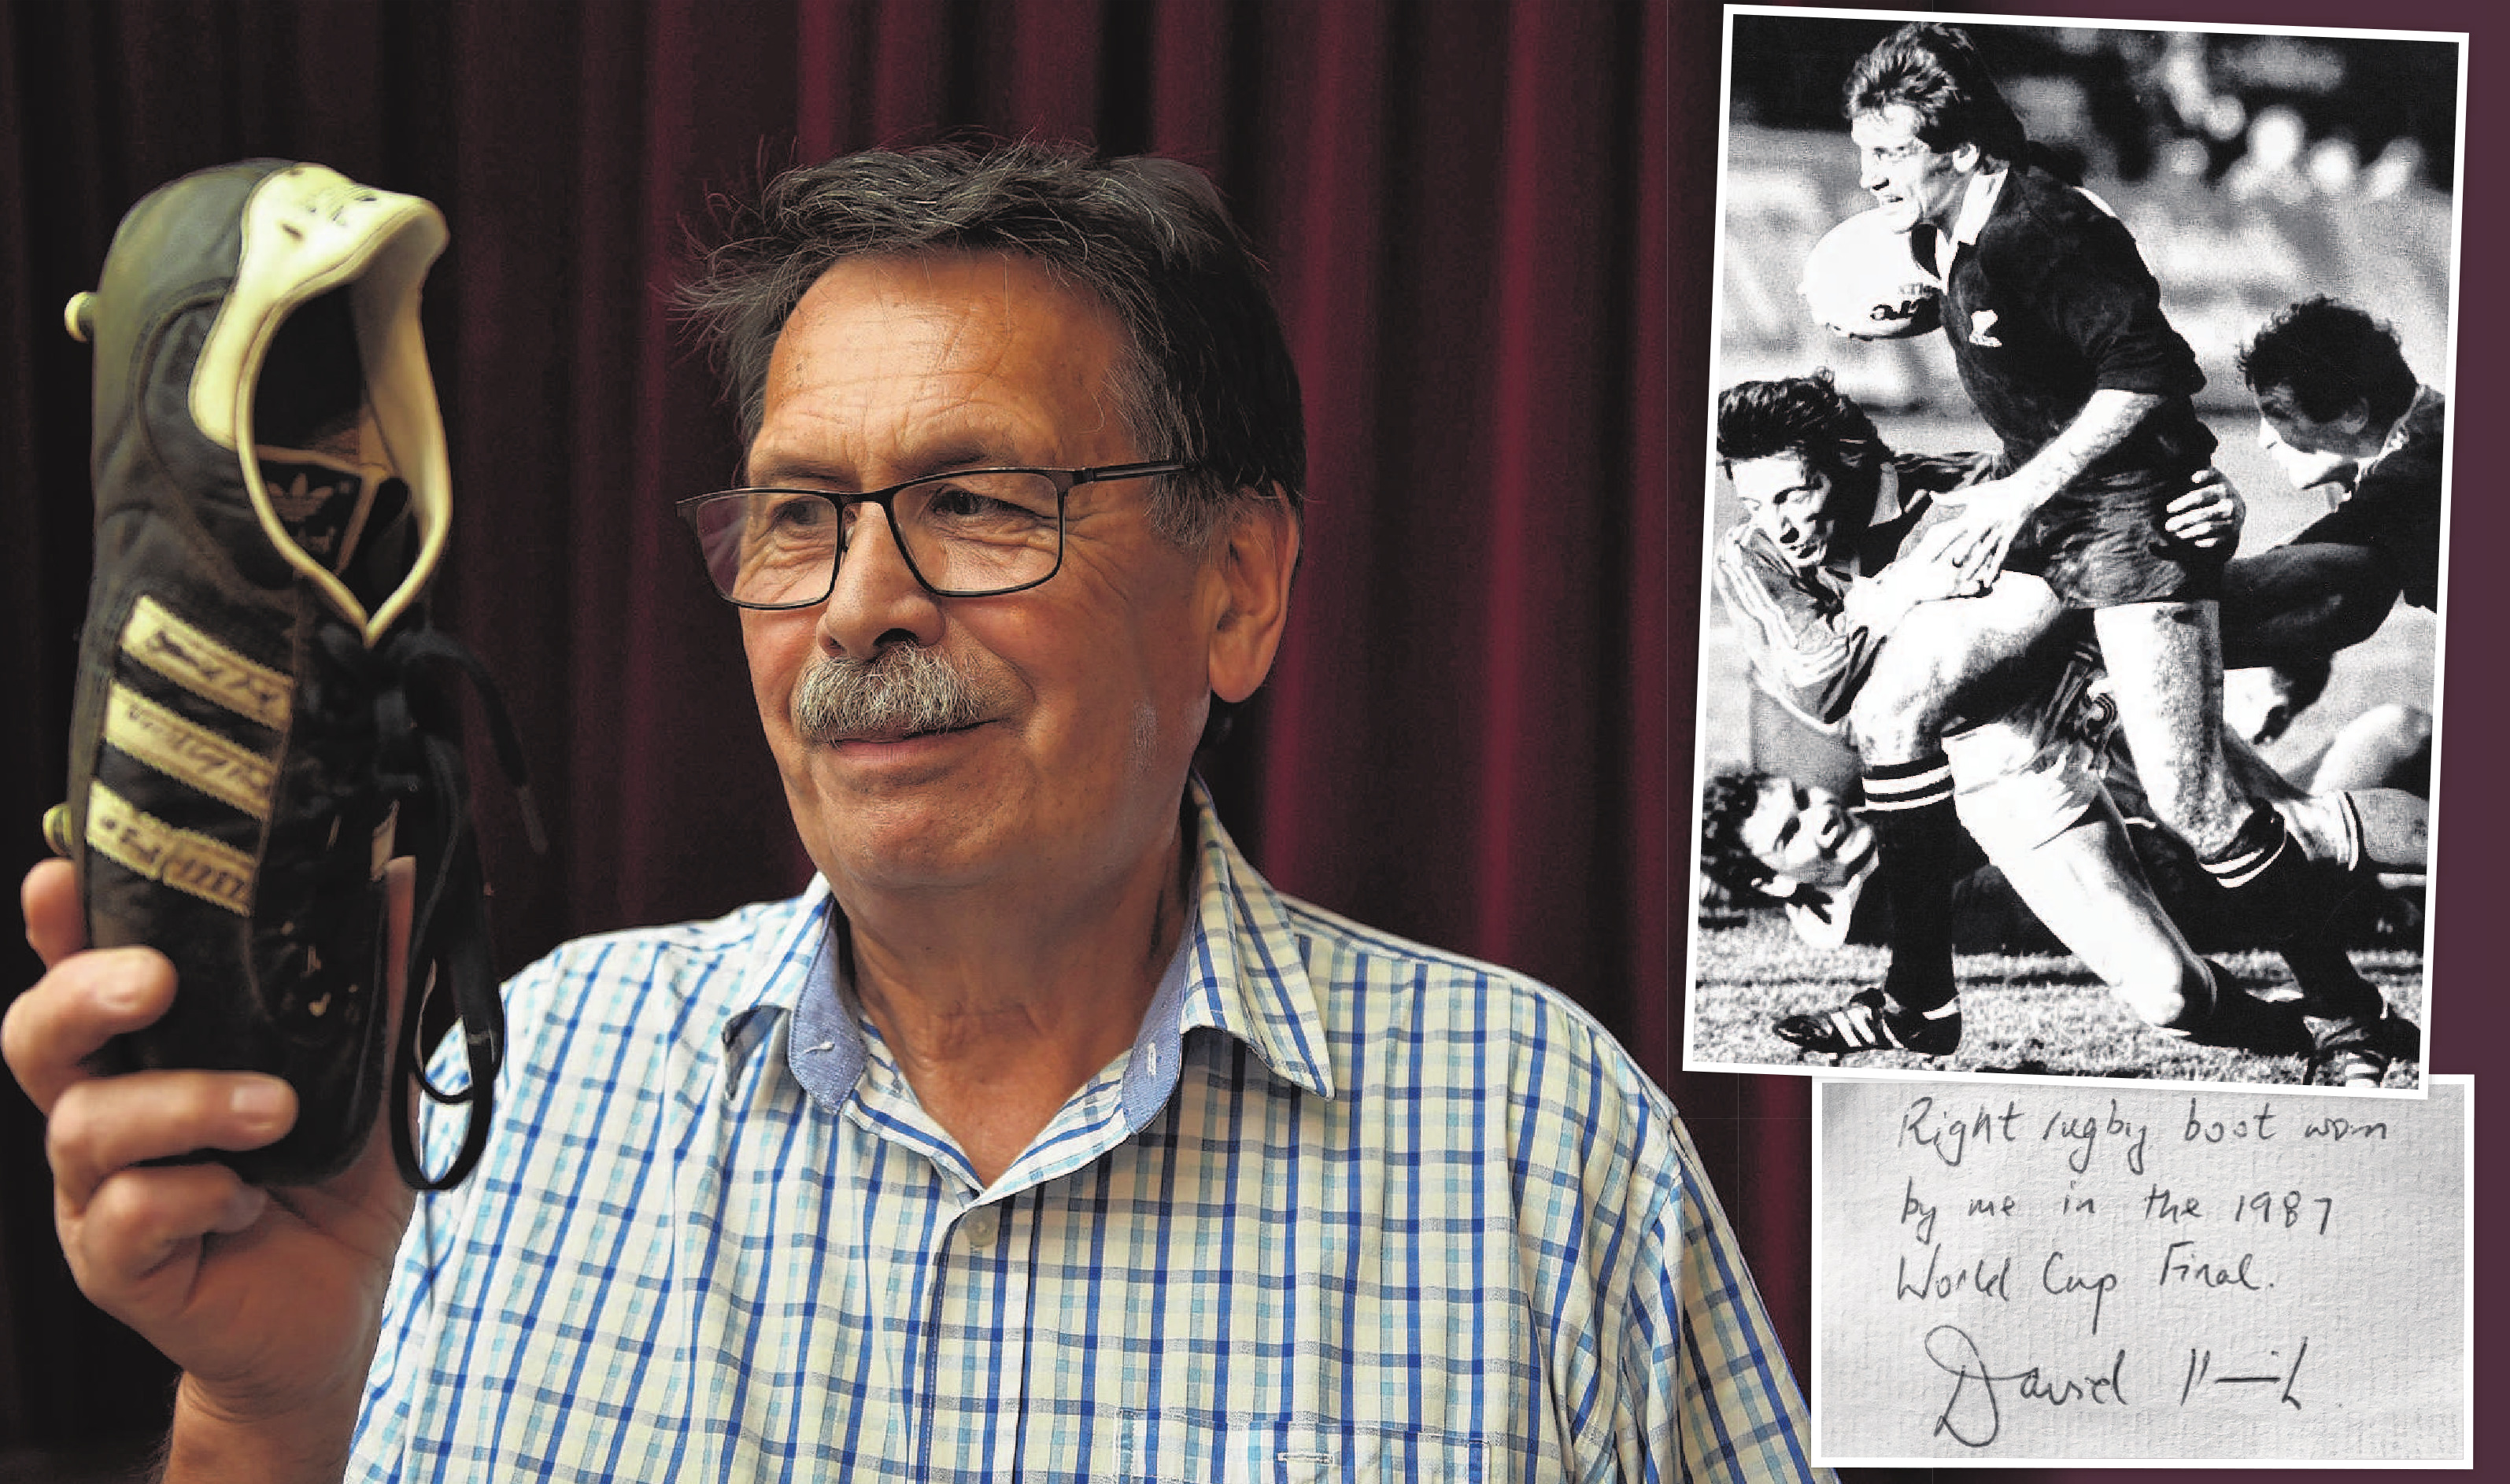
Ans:
{"type": "Polygon", "coordinates": [[[889,517],[906,570],[934,598],[1037,588],[1064,565],[1064,497],[1074,485],[1182,475],[1192,465],[1099,470],[961,470],[868,495],[723,490],[680,502],[715,593],[740,608],[813,608],[836,590],[863,505],[889,517]]]}

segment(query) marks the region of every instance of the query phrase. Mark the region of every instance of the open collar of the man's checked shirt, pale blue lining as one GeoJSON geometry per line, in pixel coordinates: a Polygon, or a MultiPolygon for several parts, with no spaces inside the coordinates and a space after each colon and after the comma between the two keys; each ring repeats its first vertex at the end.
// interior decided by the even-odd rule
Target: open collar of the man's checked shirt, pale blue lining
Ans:
{"type": "MultiPolygon", "coordinates": [[[[1325,1019],[1283,899],[1237,854],[1200,778],[1187,804],[1195,824],[1190,917],[1122,1075],[1135,1127],[1175,1092],[1185,1032],[1200,1027],[1235,1037],[1283,1082],[1335,1095],[1325,1019]]],[[[748,1060],[783,1022],[788,1035],[776,1060],[833,1112],[868,1065],[861,1007],[846,982],[846,919],[826,879],[813,879],[796,906],[793,929],[763,937],[750,952],[745,984],[756,989],[725,1017],[723,1085],[740,1082],[748,1060]]]]}

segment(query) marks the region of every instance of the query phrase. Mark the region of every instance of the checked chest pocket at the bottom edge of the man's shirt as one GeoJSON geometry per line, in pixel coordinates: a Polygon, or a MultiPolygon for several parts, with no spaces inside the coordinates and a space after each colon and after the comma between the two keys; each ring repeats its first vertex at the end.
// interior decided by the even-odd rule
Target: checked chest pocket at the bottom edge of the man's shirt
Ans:
{"type": "Polygon", "coordinates": [[[1468,1434],[1320,1419],[1124,1411],[1124,1479],[1160,1484],[1481,1484],[1468,1434]]]}

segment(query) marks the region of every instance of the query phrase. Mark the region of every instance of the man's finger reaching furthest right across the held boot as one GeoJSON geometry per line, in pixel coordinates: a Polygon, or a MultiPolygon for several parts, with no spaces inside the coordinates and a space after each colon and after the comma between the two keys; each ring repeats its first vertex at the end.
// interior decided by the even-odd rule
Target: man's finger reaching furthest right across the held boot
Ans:
{"type": "Polygon", "coordinates": [[[70,1085],[45,1122],[53,1185],[70,1208],[118,1170],[196,1150],[256,1150],[296,1122],[296,1092],[259,1072],[131,1072],[70,1085]]]}

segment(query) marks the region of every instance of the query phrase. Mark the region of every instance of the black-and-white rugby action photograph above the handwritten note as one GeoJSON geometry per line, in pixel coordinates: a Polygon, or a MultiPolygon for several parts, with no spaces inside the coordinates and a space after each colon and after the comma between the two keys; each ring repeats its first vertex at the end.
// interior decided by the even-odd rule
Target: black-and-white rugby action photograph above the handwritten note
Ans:
{"type": "Polygon", "coordinates": [[[1697,1070],[2420,1095],[2462,35],[1727,13],[1697,1070]]]}

